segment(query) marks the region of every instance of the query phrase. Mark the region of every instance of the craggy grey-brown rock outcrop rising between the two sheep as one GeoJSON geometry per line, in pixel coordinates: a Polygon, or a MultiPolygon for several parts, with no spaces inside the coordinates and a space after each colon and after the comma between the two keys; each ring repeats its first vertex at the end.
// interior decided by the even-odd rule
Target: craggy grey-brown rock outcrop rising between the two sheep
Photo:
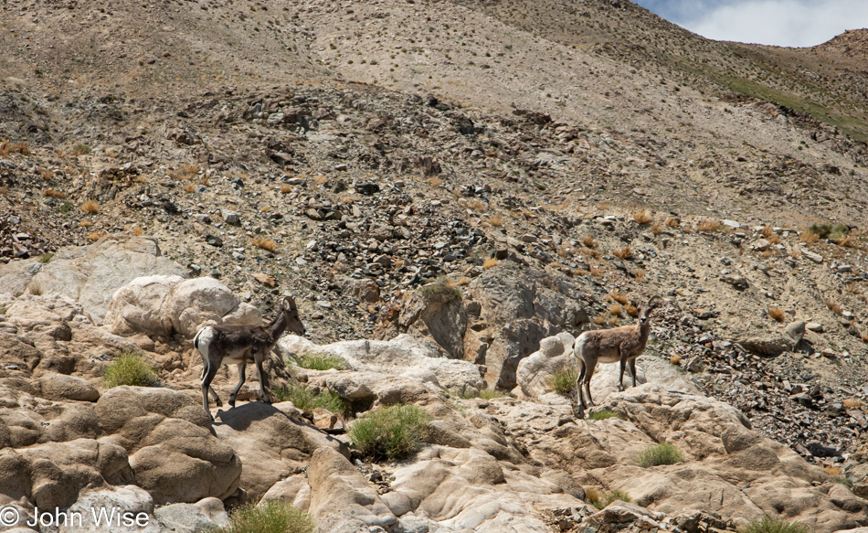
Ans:
{"type": "Polygon", "coordinates": [[[514,261],[483,272],[461,299],[449,295],[423,287],[407,299],[396,297],[376,338],[401,333],[430,338],[449,357],[484,365],[489,387],[511,390],[519,361],[537,351],[542,339],[588,320],[582,293],[569,278],[514,261]]]}

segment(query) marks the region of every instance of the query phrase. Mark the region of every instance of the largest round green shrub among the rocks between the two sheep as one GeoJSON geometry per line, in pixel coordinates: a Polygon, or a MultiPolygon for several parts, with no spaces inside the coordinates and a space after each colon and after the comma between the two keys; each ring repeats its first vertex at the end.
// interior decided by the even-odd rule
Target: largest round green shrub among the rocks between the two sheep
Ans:
{"type": "Polygon", "coordinates": [[[374,461],[410,457],[418,452],[431,417],[415,405],[392,405],[372,410],[350,426],[355,449],[374,461]]]}

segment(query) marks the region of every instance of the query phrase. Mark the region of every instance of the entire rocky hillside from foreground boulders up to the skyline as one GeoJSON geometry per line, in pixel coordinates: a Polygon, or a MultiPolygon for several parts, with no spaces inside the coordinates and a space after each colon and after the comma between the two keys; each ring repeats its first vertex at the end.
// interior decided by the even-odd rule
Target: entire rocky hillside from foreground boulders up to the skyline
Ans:
{"type": "MultiPolygon", "coordinates": [[[[271,494],[323,530],[354,498],[353,519],[393,531],[615,520],[590,517],[587,487],[627,491],[635,528],[865,525],[864,30],[721,43],[609,0],[9,0],[0,19],[0,480],[17,487],[0,504],[183,502],[213,523],[271,494]],[[197,327],[258,322],[285,293],[307,341],[278,347],[272,390],[333,391],[347,425],[422,407],[439,437],[418,460],[355,464],[313,423],[328,415],[287,402],[213,428],[194,412],[197,327]],[[621,420],[577,416],[549,380],[577,364],[563,346],[652,295],[647,383],[614,393],[599,368],[621,420]],[[163,389],[107,389],[131,350],[163,389]],[[304,353],[345,368],[295,368],[304,353]],[[259,434],[286,437],[271,463],[259,434]],[[40,474],[79,440],[93,453],[40,474]],[[640,470],[651,442],[685,463],[640,470]],[[323,488],[334,475],[349,492],[323,488]],[[456,486],[475,503],[446,501],[456,486]]],[[[224,399],[234,382],[221,371],[224,399]]]]}

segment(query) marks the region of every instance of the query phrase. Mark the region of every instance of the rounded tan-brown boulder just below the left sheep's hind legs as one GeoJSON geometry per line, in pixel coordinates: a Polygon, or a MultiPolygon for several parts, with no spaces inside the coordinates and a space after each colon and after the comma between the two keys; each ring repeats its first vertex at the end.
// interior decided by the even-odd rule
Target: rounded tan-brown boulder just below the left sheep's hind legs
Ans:
{"type": "Polygon", "coordinates": [[[238,488],[238,454],[211,432],[210,417],[191,397],[169,389],[117,387],[96,405],[105,440],[130,454],[138,485],[156,503],[224,499],[238,488]]]}

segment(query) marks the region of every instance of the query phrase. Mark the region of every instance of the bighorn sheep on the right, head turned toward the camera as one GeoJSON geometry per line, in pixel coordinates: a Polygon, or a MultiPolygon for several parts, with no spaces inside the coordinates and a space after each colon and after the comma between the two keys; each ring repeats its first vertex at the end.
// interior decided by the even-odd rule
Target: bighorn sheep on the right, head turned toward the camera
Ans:
{"type": "Polygon", "coordinates": [[[633,387],[636,387],[636,357],[645,351],[645,343],[648,342],[648,332],[651,323],[648,315],[662,300],[660,296],[652,296],[648,304],[645,304],[639,312],[639,322],[636,325],[622,325],[612,329],[597,329],[586,331],[576,339],[573,346],[573,354],[579,361],[581,369],[576,379],[578,387],[578,400],[582,410],[587,409],[582,385],[587,389],[587,400],[594,403],[591,398],[591,377],[597,363],[620,363],[620,375],[618,389],[624,389],[624,368],[630,362],[630,375],[633,377],[633,387]],[[584,383],[583,383],[584,380],[584,383]]]}

